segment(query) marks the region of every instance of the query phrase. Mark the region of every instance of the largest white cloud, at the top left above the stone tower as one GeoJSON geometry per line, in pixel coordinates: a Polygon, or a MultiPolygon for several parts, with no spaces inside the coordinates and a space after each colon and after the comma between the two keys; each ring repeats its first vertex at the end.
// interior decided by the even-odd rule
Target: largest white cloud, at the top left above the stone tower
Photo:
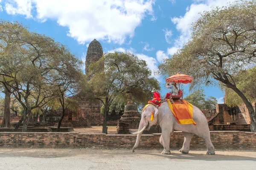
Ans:
{"type": "Polygon", "coordinates": [[[8,14],[21,14],[44,22],[56,20],[60,26],[68,27],[68,36],[79,43],[108,40],[122,44],[126,37],[133,37],[134,30],[146,15],[155,20],[155,0],[8,0],[8,14]]]}

